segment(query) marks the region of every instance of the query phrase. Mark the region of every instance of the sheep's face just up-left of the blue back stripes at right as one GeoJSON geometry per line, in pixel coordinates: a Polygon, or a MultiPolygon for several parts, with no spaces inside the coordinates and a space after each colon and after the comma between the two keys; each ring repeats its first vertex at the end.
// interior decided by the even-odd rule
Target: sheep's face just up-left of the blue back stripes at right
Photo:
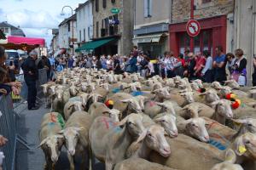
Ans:
{"type": "Polygon", "coordinates": [[[206,128],[206,122],[203,118],[191,118],[186,125],[186,131],[195,139],[199,139],[202,142],[209,142],[209,134],[206,128]]]}

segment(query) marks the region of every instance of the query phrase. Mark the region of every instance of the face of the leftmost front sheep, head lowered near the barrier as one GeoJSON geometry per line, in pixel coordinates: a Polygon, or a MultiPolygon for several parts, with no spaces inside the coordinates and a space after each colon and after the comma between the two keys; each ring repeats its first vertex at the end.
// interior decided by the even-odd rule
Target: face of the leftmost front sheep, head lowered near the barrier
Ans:
{"type": "Polygon", "coordinates": [[[44,139],[40,146],[44,152],[48,152],[52,162],[56,163],[61,154],[61,147],[63,145],[63,135],[53,135],[44,139]]]}

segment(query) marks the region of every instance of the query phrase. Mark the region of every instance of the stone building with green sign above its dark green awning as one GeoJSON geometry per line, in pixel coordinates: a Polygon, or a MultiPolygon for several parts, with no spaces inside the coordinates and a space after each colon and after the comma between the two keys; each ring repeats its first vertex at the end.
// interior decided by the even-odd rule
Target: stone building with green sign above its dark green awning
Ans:
{"type": "Polygon", "coordinates": [[[93,0],[93,40],[100,41],[95,54],[131,53],[134,1],[93,0]],[[103,44],[102,44],[103,43],[103,44]]]}

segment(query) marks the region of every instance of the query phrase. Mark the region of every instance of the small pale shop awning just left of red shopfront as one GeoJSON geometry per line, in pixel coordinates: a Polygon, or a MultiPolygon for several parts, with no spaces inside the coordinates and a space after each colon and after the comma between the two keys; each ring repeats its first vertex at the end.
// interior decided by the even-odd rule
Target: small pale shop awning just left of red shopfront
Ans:
{"type": "Polygon", "coordinates": [[[145,42],[160,42],[160,38],[162,36],[165,36],[165,34],[150,34],[148,36],[138,36],[134,37],[132,39],[132,42],[137,44],[137,43],[145,43],[145,42]]]}

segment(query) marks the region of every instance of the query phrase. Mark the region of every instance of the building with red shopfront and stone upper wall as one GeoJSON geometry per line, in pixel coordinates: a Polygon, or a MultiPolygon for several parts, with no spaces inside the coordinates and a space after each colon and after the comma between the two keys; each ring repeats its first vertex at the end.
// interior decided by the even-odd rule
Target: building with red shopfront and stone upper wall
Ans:
{"type": "MultiPolygon", "coordinates": [[[[174,54],[189,48],[190,37],[186,23],[190,19],[190,0],[172,0],[172,24],[169,26],[170,48],[174,54]]],[[[194,37],[194,52],[209,50],[215,56],[215,48],[222,46],[224,52],[234,49],[234,1],[195,0],[195,20],[201,24],[201,33],[194,37]]]]}

